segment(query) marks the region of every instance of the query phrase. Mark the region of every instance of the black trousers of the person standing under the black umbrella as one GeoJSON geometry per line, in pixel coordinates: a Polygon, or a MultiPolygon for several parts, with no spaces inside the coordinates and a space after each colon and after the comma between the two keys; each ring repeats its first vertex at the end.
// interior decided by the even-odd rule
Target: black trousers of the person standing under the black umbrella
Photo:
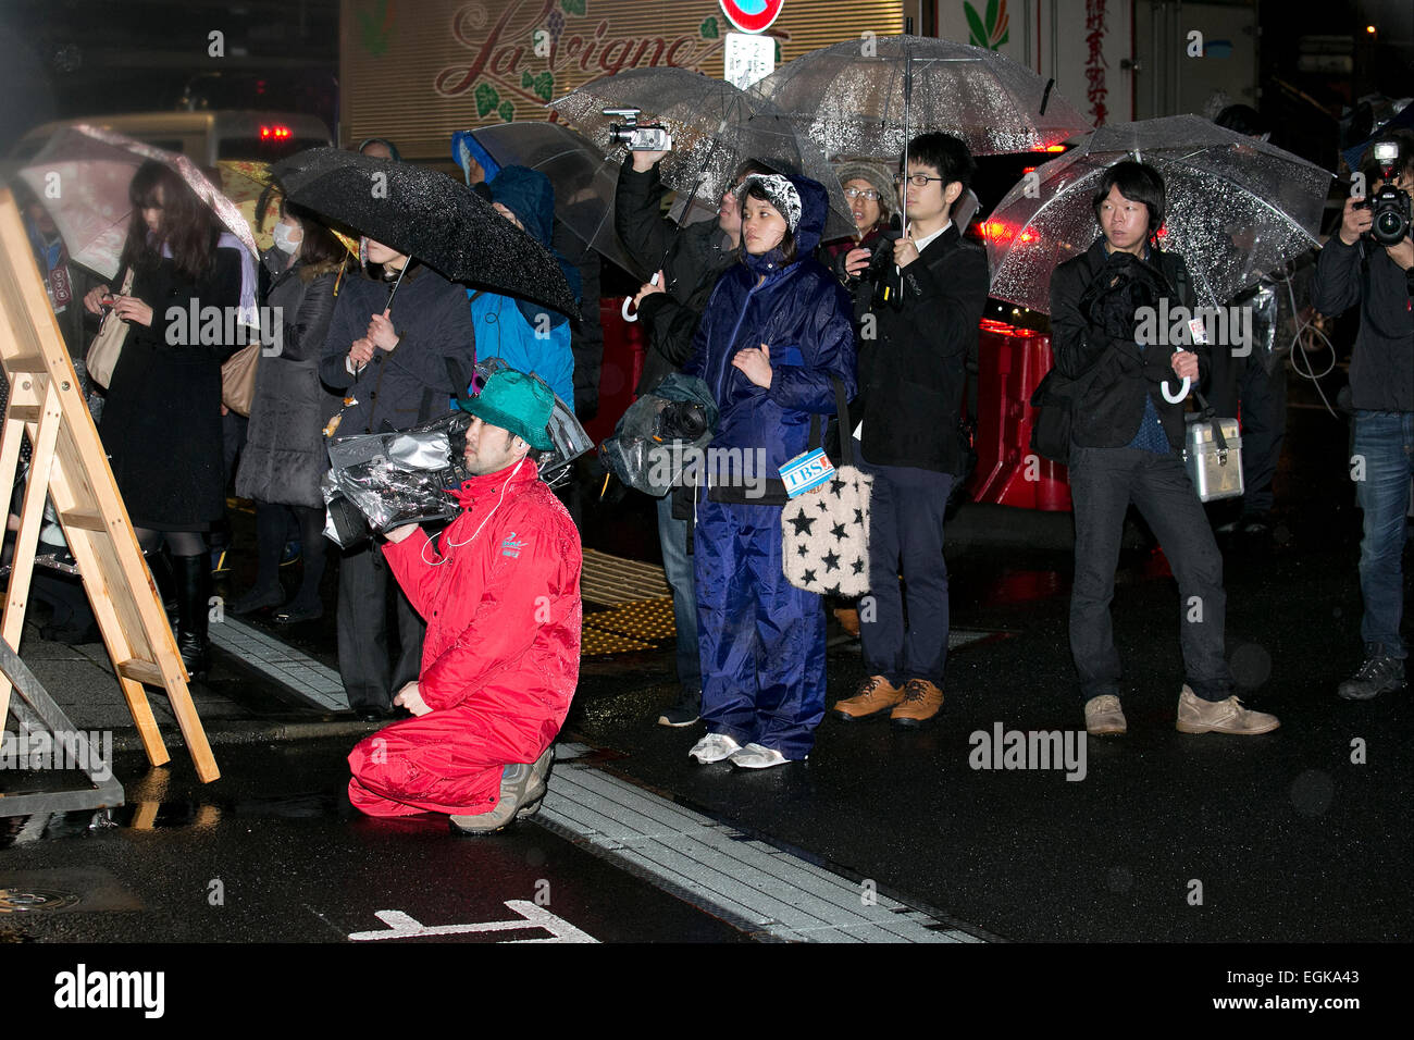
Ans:
{"type": "Polygon", "coordinates": [[[339,676],[349,707],[390,707],[393,695],[421,669],[427,624],[403,596],[378,545],[365,543],[339,559],[338,630],[339,676]],[[396,661],[389,659],[387,647],[389,596],[397,613],[396,661]]]}

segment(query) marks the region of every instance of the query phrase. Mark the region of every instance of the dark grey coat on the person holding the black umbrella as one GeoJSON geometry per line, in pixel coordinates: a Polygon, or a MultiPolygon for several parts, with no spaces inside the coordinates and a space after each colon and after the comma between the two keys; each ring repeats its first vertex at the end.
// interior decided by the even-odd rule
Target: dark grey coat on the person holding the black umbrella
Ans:
{"type": "Polygon", "coordinates": [[[431,267],[417,265],[407,272],[393,299],[393,331],[399,335],[392,351],[375,348],[359,376],[349,375],[345,361],[355,340],[368,333],[373,314],[382,314],[392,283],[362,277],[344,279],[334,304],[334,318],[324,340],[320,378],[338,393],[355,398],[344,410],[337,436],[406,430],[451,410],[451,396],[467,389],[477,364],[475,334],[467,290],[431,267]],[[462,374],[454,386],[447,358],[462,374]]]}

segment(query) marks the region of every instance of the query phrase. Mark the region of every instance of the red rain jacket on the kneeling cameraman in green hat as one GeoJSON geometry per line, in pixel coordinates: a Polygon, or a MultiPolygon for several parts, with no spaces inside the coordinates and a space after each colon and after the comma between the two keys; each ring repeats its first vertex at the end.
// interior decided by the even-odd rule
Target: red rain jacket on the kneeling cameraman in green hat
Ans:
{"type": "Polygon", "coordinates": [[[474,477],[434,545],[424,531],[383,546],[427,621],[417,683],[433,713],[467,712],[468,736],[534,761],[580,679],[580,533],[534,463],[474,477]]]}

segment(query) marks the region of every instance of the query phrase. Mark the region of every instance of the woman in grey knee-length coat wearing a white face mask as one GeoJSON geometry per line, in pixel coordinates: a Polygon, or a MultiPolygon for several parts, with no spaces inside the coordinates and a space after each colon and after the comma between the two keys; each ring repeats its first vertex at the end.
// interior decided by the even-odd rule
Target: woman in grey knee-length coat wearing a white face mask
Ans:
{"type": "MultiPolygon", "coordinates": [[[[264,226],[264,207],[259,208],[264,226]]],[[[320,477],[328,468],[324,424],[339,398],[320,382],[320,354],[334,317],[334,299],[348,250],[308,209],[280,200],[274,248],[262,258],[269,289],[266,314],[279,340],[256,368],[246,447],[236,471],[236,494],[256,504],[256,582],[230,604],[232,614],[280,607],[279,624],[311,621],[324,614],[324,495],[320,477]],[[286,603],[280,586],[280,552],[293,512],[300,525],[304,574],[286,603]]]]}

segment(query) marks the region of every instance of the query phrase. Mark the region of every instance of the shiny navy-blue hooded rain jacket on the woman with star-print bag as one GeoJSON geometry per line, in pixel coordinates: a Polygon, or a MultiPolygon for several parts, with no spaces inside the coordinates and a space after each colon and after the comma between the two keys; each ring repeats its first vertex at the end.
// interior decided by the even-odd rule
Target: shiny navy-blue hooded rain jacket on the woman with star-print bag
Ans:
{"type": "MultiPolygon", "coordinates": [[[[850,297],[812,256],[824,229],[826,191],[805,177],[789,180],[800,195],[793,232],[800,259],[783,263],[779,249],[742,252],[717,282],[683,366],[707,383],[721,412],[711,447],[764,449],[772,490],[783,487],[779,467],[809,449],[810,417],[834,415],[831,378],[844,383],[846,396],[857,386],[850,297]],[[769,389],[731,364],[738,351],[761,344],[771,348],[769,389]]],[[[721,485],[724,474],[708,481],[721,485]]]]}

